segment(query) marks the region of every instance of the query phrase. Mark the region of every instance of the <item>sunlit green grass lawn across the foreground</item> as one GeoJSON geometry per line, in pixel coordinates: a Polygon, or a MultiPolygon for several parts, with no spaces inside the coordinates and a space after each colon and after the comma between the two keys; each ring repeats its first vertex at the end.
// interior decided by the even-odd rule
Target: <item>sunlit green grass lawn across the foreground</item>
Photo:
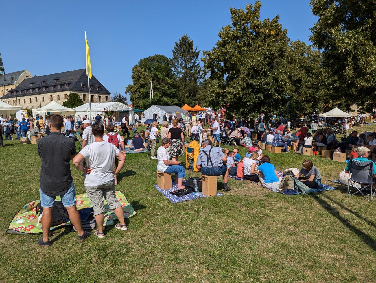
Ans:
{"type": "MultiPolygon", "coordinates": [[[[77,233],[63,228],[42,248],[39,235],[6,234],[14,214],[39,199],[41,160],[36,145],[5,144],[1,282],[375,281],[375,201],[347,197],[346,187],[330,182],[346,163],[310,157],[334,191],[285,196],[230,179],[232,190],[222,197],[172,204],[153,187],[157,160],[128,154],[117,185],[138,213],[127,219],[128,230],[107,227],[105,239],[78,243],[77,233]]],[[[279,170],[306,159],[268,155],[279,170]]],[[[81,172],[71,171],[77,194],[85,192],[81,172]]]]}

